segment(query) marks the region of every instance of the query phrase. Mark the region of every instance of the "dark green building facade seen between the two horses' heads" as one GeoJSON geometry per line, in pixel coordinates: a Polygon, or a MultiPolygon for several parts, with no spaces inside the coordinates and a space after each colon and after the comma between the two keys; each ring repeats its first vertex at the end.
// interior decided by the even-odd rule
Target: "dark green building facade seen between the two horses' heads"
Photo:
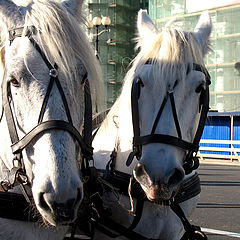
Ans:
{"type": "Polygon", "coordinates": [[[111,107],[120,94],[128,65],[134,58],[136,18],[146,0],[89,0],[88,18],[109,17],[110,25],[88,29],[103,70],[105,107],[111,107]],[[98,34],[98,36],[97,36],[98,34]]]}

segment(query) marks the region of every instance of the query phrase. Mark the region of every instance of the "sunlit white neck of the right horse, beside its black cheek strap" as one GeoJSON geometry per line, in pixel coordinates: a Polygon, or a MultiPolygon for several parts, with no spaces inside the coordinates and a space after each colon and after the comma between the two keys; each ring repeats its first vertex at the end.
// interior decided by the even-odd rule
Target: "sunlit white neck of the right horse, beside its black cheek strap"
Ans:
{"type": "Polygon", "coordinates": [[[132,150],[132,116],[130,97],[120,98],[115,102],[101,125],[93,141],[95,165],[105,169],[110,155],[117,151],[116,170],[132,174],[132,167],[126,167],[126,160],[132,150]]]}

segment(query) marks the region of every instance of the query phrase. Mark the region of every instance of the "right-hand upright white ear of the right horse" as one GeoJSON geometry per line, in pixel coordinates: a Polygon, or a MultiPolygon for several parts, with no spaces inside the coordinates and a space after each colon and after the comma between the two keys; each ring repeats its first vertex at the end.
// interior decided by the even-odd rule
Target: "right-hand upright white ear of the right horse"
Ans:
{"type": "Polygon", "coordinates": [[[212,31],[212,21],[208,11],[201,14],[199,21],[194,29],[194,37],[197,43],[202,48],[205,55],[209,48],[209,37],[212,31]]]}

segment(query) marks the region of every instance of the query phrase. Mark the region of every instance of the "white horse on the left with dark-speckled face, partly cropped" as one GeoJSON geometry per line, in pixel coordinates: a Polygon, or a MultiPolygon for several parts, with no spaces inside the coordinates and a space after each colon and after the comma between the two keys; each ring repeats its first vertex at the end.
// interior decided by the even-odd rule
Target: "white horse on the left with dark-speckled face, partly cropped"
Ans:
{"type": "Polygon", "coordinates": [[[83,197],[83,77],[100,103],[100,67],[77,18],[81,0],[24,3],[0,1],[0,239],[59,240],[83,197]],[[31,205],[42,222],[18,220],[31,205]]]}

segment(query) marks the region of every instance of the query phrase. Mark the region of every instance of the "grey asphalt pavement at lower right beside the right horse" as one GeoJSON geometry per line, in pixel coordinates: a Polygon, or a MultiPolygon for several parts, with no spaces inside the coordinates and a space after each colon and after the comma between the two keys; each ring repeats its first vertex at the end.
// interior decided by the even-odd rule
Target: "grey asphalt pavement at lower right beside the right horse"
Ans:
{"type": "Polygon", "coordinates": [[[191,223],[209,240],[240,238],[240,164],[202,161],[198,173],[202,192],[191,223]]]}

